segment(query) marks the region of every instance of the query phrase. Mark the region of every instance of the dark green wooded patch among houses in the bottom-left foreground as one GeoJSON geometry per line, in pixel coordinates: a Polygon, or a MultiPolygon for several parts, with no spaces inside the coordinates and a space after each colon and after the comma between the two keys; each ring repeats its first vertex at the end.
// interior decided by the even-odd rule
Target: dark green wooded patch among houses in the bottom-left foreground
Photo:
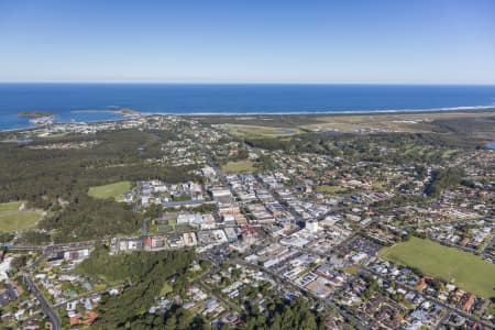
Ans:
{"type": "MultiPolygon", "coordinates": [[[[76,270],[89,277],[102,277],[112,283],[125,283],[117,296],[102,296],[98,307],[100,317],[94,324],[96,329],[152,329],[163,328],[166,319],[147,314],[164,284],[174,278],[174,292],[184,289],[187,284],[186,272],[196,260],[193,251],[163,251],[155,253],[135,252],[132,254],[109,255],[98,248],[91,256],[76,270]]],[[[180,312],[174,309],[173,312],[180,312]]],[[[183,328],[194,329],[202,324],[202,318],[187,316],[183,311],[183,328]]],[[[165,328],[166,329],[166,328],[165,328]]]]}

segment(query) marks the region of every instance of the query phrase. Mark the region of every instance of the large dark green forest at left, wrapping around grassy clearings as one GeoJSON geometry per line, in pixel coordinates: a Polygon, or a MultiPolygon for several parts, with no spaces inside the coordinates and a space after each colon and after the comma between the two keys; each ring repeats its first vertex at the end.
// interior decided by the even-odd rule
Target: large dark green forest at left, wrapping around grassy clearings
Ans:
{"type": "Polygon", "coordinates": [[[146,161],[161,157],[160,139],[151,132],[123,130],[36,139],[29,144],[0,143],[0,202],[25,200],[29,207],[46,210],[40,228],[54,230],[52,237],[43,238],[56,242],[135,232],[141,215],[113,200],[90,198],[87,191],[119,180],[194,179],[190,166],[165,167],[146,161]],[[32,148],[80,141],[98,143],[86,148],[32,148]]]}

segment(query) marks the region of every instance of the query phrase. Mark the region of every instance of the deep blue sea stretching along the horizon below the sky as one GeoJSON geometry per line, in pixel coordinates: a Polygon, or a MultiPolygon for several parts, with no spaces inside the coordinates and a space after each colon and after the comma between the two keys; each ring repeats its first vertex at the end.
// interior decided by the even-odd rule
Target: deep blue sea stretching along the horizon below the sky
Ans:
{"type": "Polygon", "coordinates": [[[0,130],[30,127],[20,111],[58,122],[118,120],[111,110],[147,113],[373,112],[495,106],[495,86],[0,84],[0,130]]]}

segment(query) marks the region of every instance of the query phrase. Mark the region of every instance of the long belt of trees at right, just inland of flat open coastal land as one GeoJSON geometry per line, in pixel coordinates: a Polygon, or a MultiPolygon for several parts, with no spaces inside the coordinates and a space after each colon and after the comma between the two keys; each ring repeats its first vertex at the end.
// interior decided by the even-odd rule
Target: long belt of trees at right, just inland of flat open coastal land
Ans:
{"type": "Polygon", "coordinates": [[[344,157],[349,162],[392,164],[436,164],[444,161],[446,154],[455,150],[482,147],[475,140],[464,141],[454,134],[432,133],[306,133],[283,139],[246,139],[245,143],[253,147],[282,150],[293,154],[317,153],[344,157]]]}

